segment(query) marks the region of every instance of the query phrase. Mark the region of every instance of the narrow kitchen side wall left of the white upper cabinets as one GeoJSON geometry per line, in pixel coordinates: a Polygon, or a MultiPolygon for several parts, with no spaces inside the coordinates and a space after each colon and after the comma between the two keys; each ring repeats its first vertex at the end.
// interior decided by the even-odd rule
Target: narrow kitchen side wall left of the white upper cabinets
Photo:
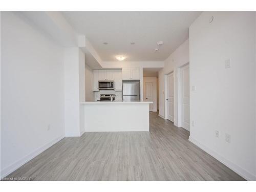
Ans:
{"type": "Polygon", "coordinates": [[[92,89],[93,84],[93,70],[86,65],[86,101],[94,101],[94,93],[92,89]]]}

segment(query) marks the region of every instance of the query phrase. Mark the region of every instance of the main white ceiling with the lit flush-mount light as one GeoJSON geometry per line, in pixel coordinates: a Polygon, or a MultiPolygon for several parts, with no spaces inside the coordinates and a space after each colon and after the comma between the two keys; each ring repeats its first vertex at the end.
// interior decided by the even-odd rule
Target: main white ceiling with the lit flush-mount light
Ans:
{"type": "Polygon", "coordinates": [[[201,12],[62,13],[79,34],[86,35],[103,61],[117,61],[116,55],[127,56],[125,61],[162,61],[188,38],[188,28],[201,12]],[[160,40],[164,45],[155,52],[160,40]]]}

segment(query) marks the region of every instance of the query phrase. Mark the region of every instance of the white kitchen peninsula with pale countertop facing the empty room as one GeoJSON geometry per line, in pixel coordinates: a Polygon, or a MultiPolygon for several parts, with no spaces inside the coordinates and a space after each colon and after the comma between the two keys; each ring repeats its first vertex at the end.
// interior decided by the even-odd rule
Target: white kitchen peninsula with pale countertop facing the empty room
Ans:
{"type": "Polygon", "coordinates": [[[85,132],[150,131],[149,104],[144,101],[81,102],[85,132]]]}

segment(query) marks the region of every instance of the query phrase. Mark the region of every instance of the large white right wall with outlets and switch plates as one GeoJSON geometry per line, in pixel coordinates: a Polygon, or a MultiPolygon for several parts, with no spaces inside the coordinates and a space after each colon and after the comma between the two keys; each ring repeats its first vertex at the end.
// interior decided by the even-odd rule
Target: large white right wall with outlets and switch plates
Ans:
{"type": "Polygon", "coordinates": [[[249,180],[256,173],[254,14],[203,12],[189,28],[190,87],[196,86],[189,139],[249,180]]]}

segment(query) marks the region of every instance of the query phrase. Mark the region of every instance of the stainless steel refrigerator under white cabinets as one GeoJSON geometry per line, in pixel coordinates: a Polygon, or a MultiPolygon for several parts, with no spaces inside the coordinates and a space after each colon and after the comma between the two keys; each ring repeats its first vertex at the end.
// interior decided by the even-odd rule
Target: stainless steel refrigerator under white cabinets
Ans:
{"type": "Polygon", "coordinates": [[[140,100],[140,81],[123,81],[123,100],[140,100]]]}

